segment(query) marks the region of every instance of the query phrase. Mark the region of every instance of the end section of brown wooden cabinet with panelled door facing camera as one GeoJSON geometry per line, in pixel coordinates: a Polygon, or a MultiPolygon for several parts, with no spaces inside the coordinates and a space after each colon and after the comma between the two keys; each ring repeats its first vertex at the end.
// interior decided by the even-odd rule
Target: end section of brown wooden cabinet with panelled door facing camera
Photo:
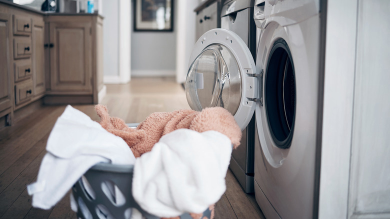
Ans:
{"type": "Polygon", "coordinates": [[[45,21],[50,72],[44,103],[97,103],[102,87],[101,17],[57,14],[45,21]]]}

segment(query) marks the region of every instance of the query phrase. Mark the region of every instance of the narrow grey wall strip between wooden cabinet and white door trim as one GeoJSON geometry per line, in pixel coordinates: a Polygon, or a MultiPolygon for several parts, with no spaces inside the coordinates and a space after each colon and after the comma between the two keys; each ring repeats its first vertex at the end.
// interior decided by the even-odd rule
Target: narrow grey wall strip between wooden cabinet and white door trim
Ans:
{"type": "Polygon", "coordinates": [[[104,75],[119,75],[118,69],[118,0],[103,0],[103,51],[104,75]]]}

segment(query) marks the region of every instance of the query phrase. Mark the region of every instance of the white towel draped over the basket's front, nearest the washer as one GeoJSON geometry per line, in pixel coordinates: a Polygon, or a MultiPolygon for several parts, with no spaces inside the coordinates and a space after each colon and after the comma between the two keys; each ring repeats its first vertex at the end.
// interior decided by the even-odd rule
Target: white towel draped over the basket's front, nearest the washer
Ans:
{"type": "Polygon", "coordinates": [[[159,217],[203,212],[226,189],[230,139],[217,131],[178,129],[135,160],[132,194],[159,217]]]}

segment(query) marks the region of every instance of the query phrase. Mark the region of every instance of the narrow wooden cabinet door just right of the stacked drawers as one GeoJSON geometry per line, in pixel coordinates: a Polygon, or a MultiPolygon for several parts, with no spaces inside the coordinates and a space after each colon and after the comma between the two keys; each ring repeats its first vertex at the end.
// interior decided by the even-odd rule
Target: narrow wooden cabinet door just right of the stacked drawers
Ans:
{"type": "Polygon", "coordinates": [[[33,20],[32,26],[32,68],[33,68],[33,89],[34,94],[38,95],[44,92],[44,22],[42,20],[33,20]]]}

